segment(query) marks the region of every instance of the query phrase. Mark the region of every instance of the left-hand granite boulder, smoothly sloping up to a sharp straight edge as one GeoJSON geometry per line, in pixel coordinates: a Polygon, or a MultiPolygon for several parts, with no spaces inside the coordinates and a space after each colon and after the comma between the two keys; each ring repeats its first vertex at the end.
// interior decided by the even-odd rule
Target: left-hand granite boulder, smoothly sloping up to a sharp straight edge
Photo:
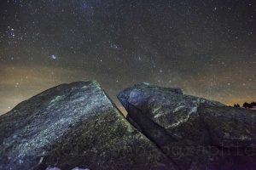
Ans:
{"type": "Polygon", "coordinates": [[[176,169],[97,82],[50,88],[0,116],[0,169],[50,167],[176,169]]]}

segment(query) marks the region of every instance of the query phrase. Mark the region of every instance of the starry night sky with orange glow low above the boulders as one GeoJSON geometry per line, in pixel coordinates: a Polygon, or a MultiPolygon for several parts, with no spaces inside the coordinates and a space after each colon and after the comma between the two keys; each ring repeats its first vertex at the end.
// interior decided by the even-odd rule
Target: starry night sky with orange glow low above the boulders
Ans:
{"type": "MultiPolygon", "coordinates": [[[[256,100],[254,0],[1,0],[0,114],[55,85],[256,100]]],[[[119,105],[119,104],[118,104],[119,105]]]]}

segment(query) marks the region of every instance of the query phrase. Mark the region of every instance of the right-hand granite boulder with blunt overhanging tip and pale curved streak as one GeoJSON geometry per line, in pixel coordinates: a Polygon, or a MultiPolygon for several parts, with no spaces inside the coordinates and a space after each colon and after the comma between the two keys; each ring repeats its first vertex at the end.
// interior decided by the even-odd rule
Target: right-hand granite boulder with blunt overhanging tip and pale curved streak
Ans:
{"type": "Polygon", "coordinates": [[[179,169],[254,169],[256,111],[139,83],[120,92],[127,120],[179,169]]]}

